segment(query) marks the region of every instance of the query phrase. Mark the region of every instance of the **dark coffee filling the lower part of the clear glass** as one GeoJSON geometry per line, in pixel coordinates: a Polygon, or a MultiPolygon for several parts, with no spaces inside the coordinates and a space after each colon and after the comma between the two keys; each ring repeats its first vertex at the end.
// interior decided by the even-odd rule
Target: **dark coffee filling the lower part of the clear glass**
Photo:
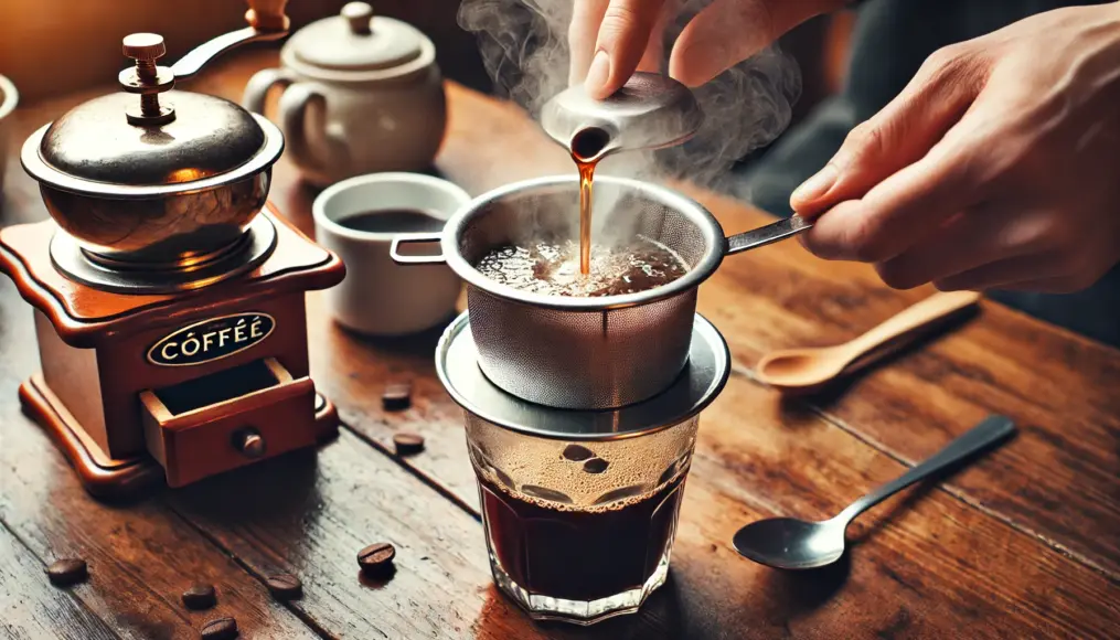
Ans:
{"type": "Polygon", "coordinates": [[[479,476],[483,517],[505,573],[532,594],[592,601],[641,588],[673,544],[684,474],[600,511],[551,509],[479,476]]]}

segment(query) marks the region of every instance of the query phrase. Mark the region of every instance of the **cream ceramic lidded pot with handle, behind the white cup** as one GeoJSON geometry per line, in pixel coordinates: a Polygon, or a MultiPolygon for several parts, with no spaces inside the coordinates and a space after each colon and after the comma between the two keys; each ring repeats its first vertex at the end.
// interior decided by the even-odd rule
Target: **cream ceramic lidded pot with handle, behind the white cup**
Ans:
{"type": "Polygon", "coordinates": [[[447,126],[436,47],[417,28],[351,2],[284,44],[281,68],[258,72],[245,109],[261,113],[286,86],[279,120],[287,152],[316,185],[431,166],[447,126]]]}

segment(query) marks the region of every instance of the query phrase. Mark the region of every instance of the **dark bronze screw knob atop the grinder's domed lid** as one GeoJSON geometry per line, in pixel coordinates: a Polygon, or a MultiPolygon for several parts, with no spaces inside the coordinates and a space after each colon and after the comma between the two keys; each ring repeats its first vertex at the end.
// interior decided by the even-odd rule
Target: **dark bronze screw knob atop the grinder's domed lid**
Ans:
{"type": "Polygon", "coordinates": [[[121,41],[121,52],[137,62],[116,76],[121,89],[140,94],[139,109],[125,111],[129,122],[148,127],[175,120],[175,109],[159,103],[159,94],[175,86],[175,74],[167,67],[156,66],[156,61],[167,53],[164,36],[159,34],[130,34],[121,41]]]}

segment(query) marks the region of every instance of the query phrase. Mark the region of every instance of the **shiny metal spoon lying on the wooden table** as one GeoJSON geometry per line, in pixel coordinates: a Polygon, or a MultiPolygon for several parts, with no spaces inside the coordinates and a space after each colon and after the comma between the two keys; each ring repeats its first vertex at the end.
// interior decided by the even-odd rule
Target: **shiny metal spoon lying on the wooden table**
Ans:
{"type": "Polygon", "coordinates": [[[1006,416],[988,416],[971,430],[949,443],[933,457],[852,502],[837,517],[823,522],[795,518],[768,518],[752,522],[735,534],[735,548],[743,556],[781,569],[812,569],[840,559],[844,530],[864,511],[911,484],[998,443],[1015,433],[1006,416]]]}

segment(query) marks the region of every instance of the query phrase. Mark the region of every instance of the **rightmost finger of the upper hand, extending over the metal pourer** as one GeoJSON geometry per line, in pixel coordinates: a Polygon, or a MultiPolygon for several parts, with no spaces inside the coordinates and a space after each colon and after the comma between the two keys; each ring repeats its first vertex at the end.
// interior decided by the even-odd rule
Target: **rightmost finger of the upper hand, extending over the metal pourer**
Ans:
{"type": "Polygon", "coordinates": [[[681,31],[669,61],[669,75],[689,86],[704,84],[837,4],[822,0],[715,0],[681,31]]]}

